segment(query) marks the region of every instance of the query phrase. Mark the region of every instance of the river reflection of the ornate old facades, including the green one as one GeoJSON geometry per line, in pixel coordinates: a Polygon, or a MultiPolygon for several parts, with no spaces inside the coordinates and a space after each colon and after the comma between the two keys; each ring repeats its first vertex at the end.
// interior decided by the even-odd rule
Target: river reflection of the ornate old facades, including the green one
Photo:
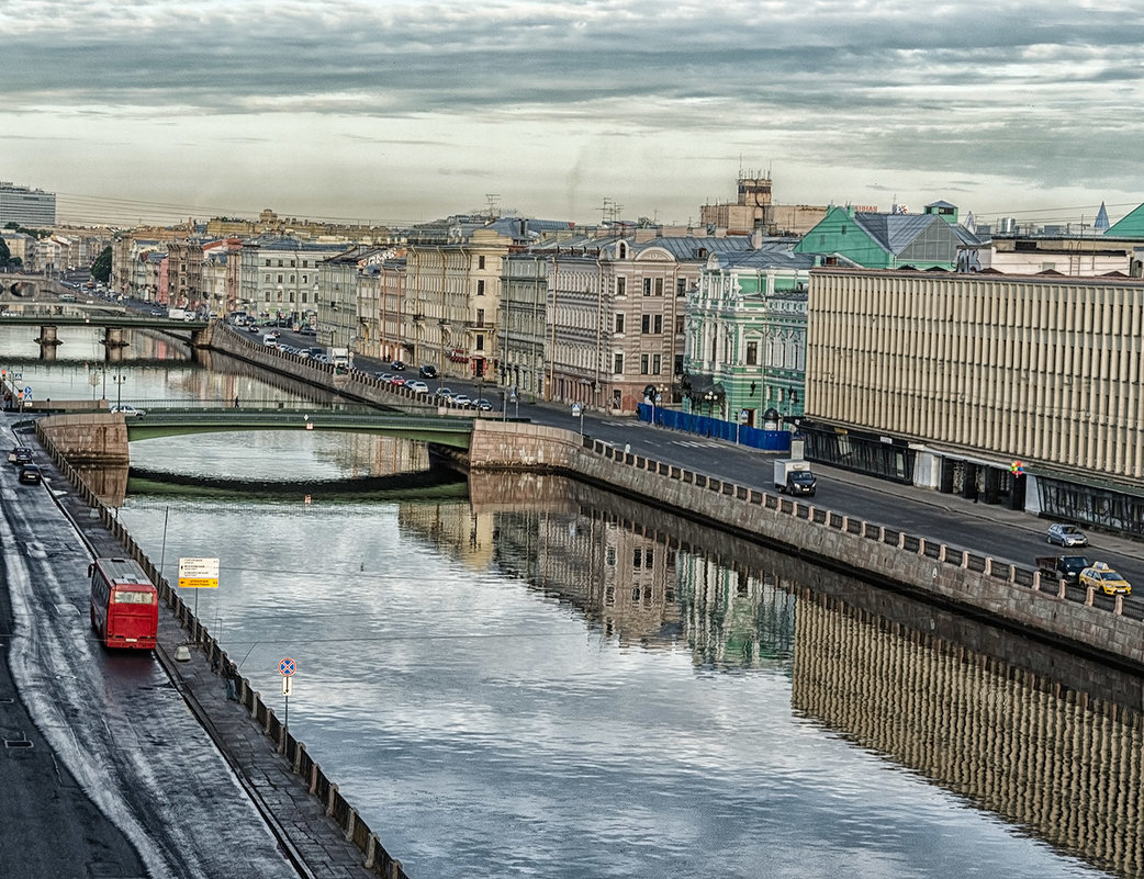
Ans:
{"type": "Polygon", "coordinates": [[[789,657],[794,599],[776,578],[681,546],[649,508],[607,510],[583,496],[595,489],[557,477],[474,476],[469,486],[495,516],[500,569],[572,604],[620,645],[685,644],[701,666],[789,657]]]}

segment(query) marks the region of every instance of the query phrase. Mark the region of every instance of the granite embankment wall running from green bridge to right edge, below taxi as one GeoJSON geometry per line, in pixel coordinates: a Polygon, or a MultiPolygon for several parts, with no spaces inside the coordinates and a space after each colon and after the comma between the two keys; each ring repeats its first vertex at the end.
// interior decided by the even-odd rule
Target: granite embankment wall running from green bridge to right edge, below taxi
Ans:
{"type": "Polygon", "coordinates": [[[745,488],[638,457],[577,433],[534,424],[479,421],[469,448],[474,470],[539,470],[581,479],[782,548],[828,568],[906,588],[1102,658],[1144,669],[1144,621],[1066,598],[1064,583],[1039,572],[861,521],[780,495],[745,488]]]}

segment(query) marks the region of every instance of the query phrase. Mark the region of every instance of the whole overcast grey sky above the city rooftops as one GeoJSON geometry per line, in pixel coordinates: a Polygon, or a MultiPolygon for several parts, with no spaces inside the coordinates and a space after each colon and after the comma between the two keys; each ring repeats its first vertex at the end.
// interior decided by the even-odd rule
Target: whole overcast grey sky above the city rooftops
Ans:
{"type": "Polygon", "coordinates": [[[1115,222],[1142,45],[1117,0],[3,0],[0,179],[85,223],[686,223],[760,170],[788,205],[1115,222]]]}

